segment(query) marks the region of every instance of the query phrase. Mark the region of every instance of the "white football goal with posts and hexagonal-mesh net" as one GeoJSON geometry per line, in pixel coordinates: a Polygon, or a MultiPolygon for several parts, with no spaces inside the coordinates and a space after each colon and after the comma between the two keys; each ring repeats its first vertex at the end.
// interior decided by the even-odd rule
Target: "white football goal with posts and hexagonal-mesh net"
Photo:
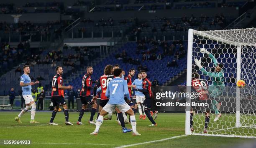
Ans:
{"type": "Polygon", "coordinates": [[[186,109],[187,135],[256,138],[255,58],[256,28],[189,29],[187,86],[196,91],[192,81],[203,81],[208,106],[186,109]],[[246,86],[238,88],[238,80],[246,86]]]}

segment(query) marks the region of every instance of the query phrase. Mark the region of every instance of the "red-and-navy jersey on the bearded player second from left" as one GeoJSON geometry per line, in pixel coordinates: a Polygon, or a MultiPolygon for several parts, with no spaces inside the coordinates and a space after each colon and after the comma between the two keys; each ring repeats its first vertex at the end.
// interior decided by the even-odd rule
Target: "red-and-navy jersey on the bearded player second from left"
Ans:
{"type": "Polygon", "coordinates": [[[58,84],[63,84],[62,76],[60,74],[56,74],[52,79],[52,91],[51,96],[63,96],[63,90],[58,88],[58,84]]]}

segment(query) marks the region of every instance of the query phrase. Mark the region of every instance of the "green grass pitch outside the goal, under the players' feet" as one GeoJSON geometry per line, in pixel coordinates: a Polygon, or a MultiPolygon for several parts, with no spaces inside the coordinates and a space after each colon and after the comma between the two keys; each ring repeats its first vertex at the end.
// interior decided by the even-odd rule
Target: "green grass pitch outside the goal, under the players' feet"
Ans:
{"type": "MultiPolygon", "coordinates": [[[[97,136],[90,135],[95,126],[87,121],[90,113],[86,112],[82,118],[84,125],[76,124],[79,113],[69,112],[69,121],[74,126],[66,126],[63,112],[58,112],[54,123],[57,126],[49,126],[51,112],[36,112],[36,121],[29,123],[30,112],[24,114],[21,118],[23,123],[14,121],[18,111],[0,112],[0,147],[3,140],[30,140],[31,144],[26,147],[52,147],[57,146],[77,148],[92,146],[95,148],[113,148],[113,147],[136,147],[136,148],[216,148],[231,147],[238,143],[246,143],[255,139],[247,138],[228,138],[213,136],[184,136],[185,113],[159,113],[156,123],[158,126],[152,127],[150,121],[139,120],[139,114],[136,114],[137,131],[141,136],[132,136],[132,133],[122,133],[118,125],[116,116],[112,120],[103,121],[100,132],[97,136]],[[232,144],[230,144],[232,143],[232,144]]],[[[96,115],[95,115],[96,117],[96,115]]],[[[131,124],[126,124],[131,128],[131,124]]],[[[9,145],[8,147],[24,147],[24,145],[9,145]]]]}

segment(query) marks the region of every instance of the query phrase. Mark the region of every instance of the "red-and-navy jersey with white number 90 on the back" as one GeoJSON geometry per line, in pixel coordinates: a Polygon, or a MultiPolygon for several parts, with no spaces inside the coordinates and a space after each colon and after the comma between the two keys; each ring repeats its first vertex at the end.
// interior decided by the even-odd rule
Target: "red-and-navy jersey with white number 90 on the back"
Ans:
{"type": "Polygon", "coordinates": [[[108,87],[108,82],[110,80],[112,80],[114,78],[113,74],[109,74],[109,75],[102,75],[100,76],[99,81],[97,81],[97,87],[101,87],[101,100],[106,100],[109,99],[108,97],[106,97],[106,90],[108,87]]]}

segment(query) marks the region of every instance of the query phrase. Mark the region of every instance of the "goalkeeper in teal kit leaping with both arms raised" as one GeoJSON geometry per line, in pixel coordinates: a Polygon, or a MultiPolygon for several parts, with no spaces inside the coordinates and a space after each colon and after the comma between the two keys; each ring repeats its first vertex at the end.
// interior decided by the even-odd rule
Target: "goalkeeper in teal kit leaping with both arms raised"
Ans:
{"type": "Polygon", "coordinates": [[[205,76],[210,76],[212,85],[208,87],[208,92],[212,99],[212,108],[215,111],[215,119],[214,122],[217,121],[221,117],[221,113],[219,112],[220,104],[215,100],[218,96],[222,94],[222,92],[225,90],[224,85],[224,73],[223,73],[223,64],[219,64],[215,57],[208,52],[205,48],[201,48],[200,52],[203,54],[208,54],[209,57],[212,59],[212,62],[215,65],[215,72],[207,72],[201,65],[201,61],[198,59],[195,59],[195,64],[199,67],[199,69],[202,71],[202,73],[205,76]]]}

